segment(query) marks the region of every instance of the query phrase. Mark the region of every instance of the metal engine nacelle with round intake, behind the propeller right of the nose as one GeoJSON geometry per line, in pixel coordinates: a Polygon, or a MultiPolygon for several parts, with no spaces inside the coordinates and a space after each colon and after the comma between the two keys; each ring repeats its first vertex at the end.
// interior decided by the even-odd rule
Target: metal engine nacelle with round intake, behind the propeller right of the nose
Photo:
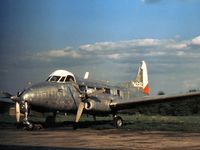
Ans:
{"type": "Polygon", "coordinates": [[[110,100],[92,100],[88,99],[85,103],[85,109],[88,111],[104,111],[109,112],[110,109],[110,100]]]}

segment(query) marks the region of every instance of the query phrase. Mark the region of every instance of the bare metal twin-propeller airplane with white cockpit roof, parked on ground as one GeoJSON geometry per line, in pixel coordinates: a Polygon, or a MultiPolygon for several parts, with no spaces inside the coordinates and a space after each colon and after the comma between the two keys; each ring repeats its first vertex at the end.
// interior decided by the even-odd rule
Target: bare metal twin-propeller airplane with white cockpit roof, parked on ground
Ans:
{"type": "Polygon", "coordinates": [[[23,113],[23,125],[32,129],[34,125],[29,121],[30,110],[53,112],[54,115],[47,117],[46,122],[55,121],[57,112],[73,113],[74,128],[77,128],[83,113],[93,116],[112,115],[114,126],[119,128],[123,125],[123,119],[118,115],[120,110],[200,96],[200,92],[149,96],[145,61],[138,67],[135,79],[120,86],[110,86],[88,78],[89,72],[86,72],[84,78],[80,78],[67,70],[56,70],[45,82],[32,85],[17,95],[1,92],[1,97],[9,98],[15,103],[16,121],[20,122],[20,114],[23,113]]]}

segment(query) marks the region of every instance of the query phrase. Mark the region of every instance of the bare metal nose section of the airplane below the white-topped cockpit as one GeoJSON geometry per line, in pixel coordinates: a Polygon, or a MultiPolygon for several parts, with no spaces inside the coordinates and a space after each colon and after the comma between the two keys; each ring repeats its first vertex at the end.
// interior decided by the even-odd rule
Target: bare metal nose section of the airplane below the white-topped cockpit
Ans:
{"type": "Polygon", "coordinates": [[[81,101],[70,83],[44,82],[30,87],[26,93],[30,105],[40,111],[75,111],[81,101]]]}

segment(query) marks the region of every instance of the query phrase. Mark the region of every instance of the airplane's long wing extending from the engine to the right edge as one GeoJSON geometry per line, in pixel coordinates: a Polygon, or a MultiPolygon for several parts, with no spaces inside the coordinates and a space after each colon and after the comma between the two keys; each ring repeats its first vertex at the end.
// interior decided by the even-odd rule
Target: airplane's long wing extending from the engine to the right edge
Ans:
{"type": "Polygon", "coordinates": [[[147,104],[157,104],[157,103],[165,103],[172,101],[182,101],[186,99],[194,99],[200,98],[200,92],[191,92],[184,94],[176,94],[176,95],[159,95],[159,96],[145,96],[145,97],[137,97],[132,100],[121,100],[121,101],[113,101],[110,104],[112,110],[123,110],[123,109],[131,109],[137,106],[147,105],[147,104]]]}

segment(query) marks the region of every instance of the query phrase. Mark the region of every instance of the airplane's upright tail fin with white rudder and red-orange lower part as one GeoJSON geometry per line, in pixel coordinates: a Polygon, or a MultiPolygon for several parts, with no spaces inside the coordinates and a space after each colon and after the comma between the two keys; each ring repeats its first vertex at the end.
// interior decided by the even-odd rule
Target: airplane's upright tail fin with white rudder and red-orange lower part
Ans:
{"type": "Polygon", "coordinates": [[[144,94],[149,94],[148,72],[145,61],[141,62],[141,65],[138,68],[136,78],[132,81],[132,84],[136,88],[141,88],[144,94]]]}

